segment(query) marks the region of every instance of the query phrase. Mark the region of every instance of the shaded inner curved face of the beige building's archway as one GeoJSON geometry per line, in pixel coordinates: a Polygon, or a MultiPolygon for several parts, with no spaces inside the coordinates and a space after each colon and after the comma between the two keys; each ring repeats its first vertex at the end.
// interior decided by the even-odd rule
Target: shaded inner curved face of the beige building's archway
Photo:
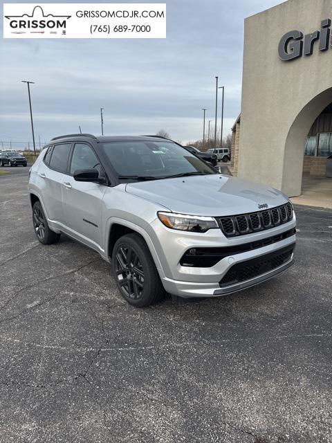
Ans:
{"type": "MultiPolygon", "coordinates": [[[[285,143],[282,190],[290,197],[301,194],[304,147],[315,119],[332,102],[332,87],[310,100],[297,114],[285,143]]],[[[332,195],[331,195],[332,198],[332,195]]]]}

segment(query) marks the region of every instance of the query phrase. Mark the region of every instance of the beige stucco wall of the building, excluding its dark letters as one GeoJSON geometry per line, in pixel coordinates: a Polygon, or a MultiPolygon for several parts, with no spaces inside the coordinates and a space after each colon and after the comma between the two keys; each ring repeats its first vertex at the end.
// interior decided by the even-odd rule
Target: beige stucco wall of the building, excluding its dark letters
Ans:
{"type": "Polygon", "coordinates": [[[304,141],[332,102],[332,47],[283,62],[278,44],[288,31],[320,30],[331,0],[288,0],[245,21],[239,177],[289,196],[301,191],[304,141]]]}

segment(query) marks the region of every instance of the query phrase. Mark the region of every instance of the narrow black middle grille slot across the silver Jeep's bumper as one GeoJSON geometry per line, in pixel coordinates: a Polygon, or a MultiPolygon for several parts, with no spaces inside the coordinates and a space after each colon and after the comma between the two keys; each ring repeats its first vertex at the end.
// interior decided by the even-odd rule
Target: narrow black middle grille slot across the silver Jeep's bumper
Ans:
{"type": "Polygon", "coordinates": [[[281,242],[295,234],[296,229],[293,228],[286,230],[284,233],[256,240],[255,242],[223,246],[221,248],[190,248],[181,257],[180,264],[181,266],[192,266],[195,268],[210,268],[225,257],[263,248],[269,244],[281,242]]]}

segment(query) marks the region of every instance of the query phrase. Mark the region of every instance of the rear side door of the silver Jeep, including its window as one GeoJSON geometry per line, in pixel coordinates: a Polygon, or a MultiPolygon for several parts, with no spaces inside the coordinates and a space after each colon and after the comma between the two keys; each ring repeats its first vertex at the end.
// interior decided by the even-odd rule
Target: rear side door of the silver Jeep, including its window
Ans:
{"type": "Polygon", "coordinates": [[[38,168],[37,187],[42,195],[47,217],[63,225],[62,182],[68,174],[68,160],[72,143],[59,143],[49,147],[38,168]]]}

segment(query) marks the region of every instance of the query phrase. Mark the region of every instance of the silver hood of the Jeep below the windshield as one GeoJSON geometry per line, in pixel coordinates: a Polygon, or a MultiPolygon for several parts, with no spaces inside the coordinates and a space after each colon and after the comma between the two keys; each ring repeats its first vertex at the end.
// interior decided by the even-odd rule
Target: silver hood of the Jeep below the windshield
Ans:
{"type": "Polygon", "coordinates": [[[252,213],[288,200],[278,190],[223,175],[202,175],[128,183],[126,192],[165,206],[174,213],[223,216],[252,213]]]}

